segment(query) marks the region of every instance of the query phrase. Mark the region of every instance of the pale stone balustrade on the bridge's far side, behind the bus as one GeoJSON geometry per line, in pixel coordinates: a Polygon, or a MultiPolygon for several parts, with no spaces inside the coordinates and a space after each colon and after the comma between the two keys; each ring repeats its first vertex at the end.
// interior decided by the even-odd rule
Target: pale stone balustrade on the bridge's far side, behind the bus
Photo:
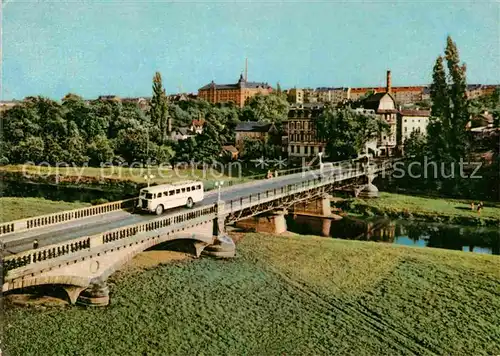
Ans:
{"type": "Polygon", "coordinates": [[[117,210],[130,208],[137,201],[137,198],[114,201],[110,203],[93,205],[85,208],[79,208],[69,211],[61,211],[31,218],[10,221],[0,224],[0,235],[6,235],[12,232],[36,229],[39,227],[56,225],[66,221],[78,220],[94,215],[106,214],[117,210]]]}

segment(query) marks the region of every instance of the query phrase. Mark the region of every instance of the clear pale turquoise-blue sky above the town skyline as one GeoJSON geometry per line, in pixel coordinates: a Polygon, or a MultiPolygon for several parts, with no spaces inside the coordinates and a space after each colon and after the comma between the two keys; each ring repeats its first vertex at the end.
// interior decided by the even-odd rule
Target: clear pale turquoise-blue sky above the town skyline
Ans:
{"type": "Polygon", "coordinates": [[[430,82],[450,34],[468,82],[500,82],[494,2],[60,1],[3,4],[2,99],[149,96],[212,79],[282,87],[430,82]]]}

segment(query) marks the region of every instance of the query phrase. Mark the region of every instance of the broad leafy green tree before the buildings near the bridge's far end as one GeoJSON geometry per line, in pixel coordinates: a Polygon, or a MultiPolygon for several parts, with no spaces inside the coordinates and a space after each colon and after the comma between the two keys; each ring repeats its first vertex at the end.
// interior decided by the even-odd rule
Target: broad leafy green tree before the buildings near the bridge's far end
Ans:
{"type": "Polygon", "coordinates": [[[388,128],[384,120],[373,115],[331,106],[325,108],[317,121],[318,136],[326,141],[326,154],[333,161],[356,157],[369,141],[388,128]]]}

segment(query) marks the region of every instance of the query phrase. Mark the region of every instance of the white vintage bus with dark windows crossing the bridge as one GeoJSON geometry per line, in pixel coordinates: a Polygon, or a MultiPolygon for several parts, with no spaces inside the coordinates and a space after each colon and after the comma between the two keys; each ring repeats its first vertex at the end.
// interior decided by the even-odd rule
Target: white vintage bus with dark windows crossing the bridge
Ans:
{"type": "Polygon", "coordinates": [[[189,209],[202,201],[203,183],[197,181],[155,185],[141,189],[137,207],[160,215],[166,209],[185,205],[189,209]]]}

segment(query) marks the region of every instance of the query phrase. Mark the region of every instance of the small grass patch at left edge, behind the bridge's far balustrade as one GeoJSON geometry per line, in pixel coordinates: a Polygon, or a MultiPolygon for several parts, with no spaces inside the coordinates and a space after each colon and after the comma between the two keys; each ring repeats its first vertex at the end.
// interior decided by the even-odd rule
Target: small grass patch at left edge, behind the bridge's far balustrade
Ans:
{"type": "Polygon", "coordinates": [[[41,198],[0,198],[0,223],[90,206],[41,198]]]}

